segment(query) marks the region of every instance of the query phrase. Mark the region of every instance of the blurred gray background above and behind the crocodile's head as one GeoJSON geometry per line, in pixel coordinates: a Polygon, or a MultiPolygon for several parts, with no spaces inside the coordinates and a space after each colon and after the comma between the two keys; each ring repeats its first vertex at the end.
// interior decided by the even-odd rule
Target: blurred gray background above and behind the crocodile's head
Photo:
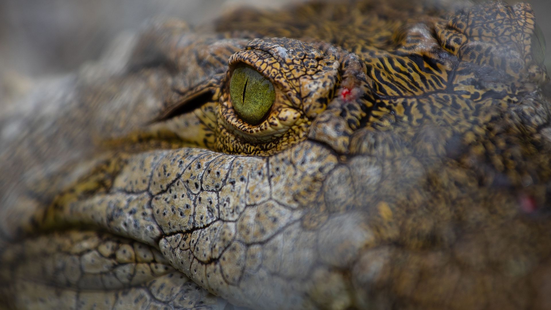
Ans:
{"type": "MultiPolygon", "coordinates": [[[[303,1],[303,0],[300,0],[303,1]]],[[[477,0],[479,1],[479,0],[477,0]]],[[[551,45],[551,0],[525,0],[551,45]]],[[[99,57],[110,40],[165,15],[208,23],[230,7],[279,7],[296,0],[0,0],[0,76],[45,76],[99,57]]],[[[507,0],[515,3],[515,0],[507,0]]],[[[551,70],[551,46],[545,60],[551,70]]]]}

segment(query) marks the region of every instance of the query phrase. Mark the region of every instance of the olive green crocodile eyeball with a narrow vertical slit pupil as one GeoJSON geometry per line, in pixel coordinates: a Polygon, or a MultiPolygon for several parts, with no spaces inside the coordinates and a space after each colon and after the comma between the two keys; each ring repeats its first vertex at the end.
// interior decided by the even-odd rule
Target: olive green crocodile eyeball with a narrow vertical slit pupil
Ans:
{"type": "Polygon", "coordinates": [[[246,66],[235,68],[230,81],[230,95],[237,115],[251,125],[259,124],[276,100],[272,83],[246,66]]]}

